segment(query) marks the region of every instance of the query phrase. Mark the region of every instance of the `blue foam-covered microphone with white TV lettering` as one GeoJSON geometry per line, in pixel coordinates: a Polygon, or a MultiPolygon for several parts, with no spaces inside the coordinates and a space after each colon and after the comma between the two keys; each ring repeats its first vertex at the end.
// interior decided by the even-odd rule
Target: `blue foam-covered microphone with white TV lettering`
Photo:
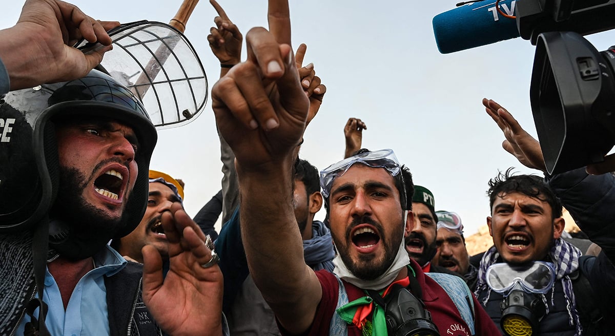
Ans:
{"type": "MultiPolygon", "coordinates": [[[[516,0],[502,0],[499,9],[514,15],[516,0]]],[[[432,21],[440,53],[458,52],[519,37],[517,20],[501,15],[496,1],[478,1],[438,14],[432,21]]]]}

